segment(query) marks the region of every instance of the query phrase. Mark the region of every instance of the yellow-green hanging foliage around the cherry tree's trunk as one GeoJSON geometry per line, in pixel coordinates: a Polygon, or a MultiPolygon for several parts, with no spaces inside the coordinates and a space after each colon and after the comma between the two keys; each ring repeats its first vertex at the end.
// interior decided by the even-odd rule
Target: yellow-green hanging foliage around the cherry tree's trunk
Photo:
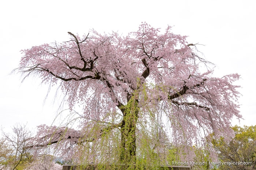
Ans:
{"type": "MultiPolygon", "coordinates": [[[[96,138],[100,132],[101,138],[88,142],[84,142],[86,138],[84,141],[81,139],[83,142],[77,146],[77,153],[74,154],[78,160],[74,160],[73,164],[88,165],[93,162],[97,164],[97,169],[124,168],[126,170],[157,170],[159,165],[166,164],[165,152],[168,149],[166,146],[168,139],[159,122],[160,118],[157,117],[157,110],[148,108],[148,114],[145,117],[142,119],[138,117],[140,109],[138,93],[147,102],[145,89],[146,84],[131,95],[126,105],[120,107],[125,114],[122,116],[123,124],[119,128],[105,128],[102,132],[101,130],[106,127],[104,122],[94,121],[95,124],[90,127],[91,134],[87,134],[96,138]]],[[[114,120],[112,122],[114,124],[114,120]]],[[[84,166],[77,168],[82,169],[84,166]]]]}

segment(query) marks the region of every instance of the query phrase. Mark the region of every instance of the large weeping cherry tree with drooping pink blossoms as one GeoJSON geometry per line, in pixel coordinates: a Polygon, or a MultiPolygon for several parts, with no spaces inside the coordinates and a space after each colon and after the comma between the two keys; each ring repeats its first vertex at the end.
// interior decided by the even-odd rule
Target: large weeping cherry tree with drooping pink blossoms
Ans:
{"type": "Polygon", "coordinates": [[[148,145],[159,151],[168,135],[183,145],[212,132],[217,138],[224,132],[232,135],[230,120],[241,117],[234,103],[238,86],[232,84],[239,75],[212,77],[209,62],[196,55],[185,36],[170,29],[161,34],[142,23],[126,37],[93,30],[80,38],[68,32],[68,42],[23,50],[19,69],[59,85],[70,110],[82,109],[78,131],[39,129],[37,144],[31,147],[71,144],[74,153],[78,144],[86,160],[120,162],[134,169],[138,155],[148,154],[142,149],[143,134],[156,138],[148,145]],[[159,128],[154,130],[154,124],[159,128]],[[158,135],[149,133],[153,131],[158,135]]]}

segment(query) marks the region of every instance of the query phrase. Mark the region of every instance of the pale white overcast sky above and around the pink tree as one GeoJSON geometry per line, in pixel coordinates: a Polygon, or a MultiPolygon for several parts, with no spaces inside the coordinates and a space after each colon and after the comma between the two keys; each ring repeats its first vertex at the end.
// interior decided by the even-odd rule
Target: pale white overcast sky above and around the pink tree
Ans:
{"type": "MultiPolygon", "coordinates": [[[[254,0],[5,0],[0,4],[0,125],[5,130],[15,123],[34,128],[51,125],[58,102],[40,79],[9,74],[18,67],[20,50],[43,43],[69,40],[68,31],[80,35],[94,28],[98,32],[137,31],[141,22],[153,27],[174,26],[173,32],[188,35],[189,43],[208,61],[216,64],[216,76],[239,73],[241,120],[239,125],[255,125],[255,40],[254,0]]],[[[233,125],[238,124],[237,120],[233,125]]]]}

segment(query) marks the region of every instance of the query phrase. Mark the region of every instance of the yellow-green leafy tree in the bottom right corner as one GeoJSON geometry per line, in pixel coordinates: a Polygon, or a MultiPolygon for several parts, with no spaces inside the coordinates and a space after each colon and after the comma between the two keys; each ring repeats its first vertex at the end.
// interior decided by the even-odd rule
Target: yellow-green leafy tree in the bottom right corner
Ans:
{"type": "Polygon", "coordinates": [[[256,169],[256,125],[255,126],[234,126],[235,137],[226,143],[223,138],[213,140],[216,150],[219,152],[219,159],[222,162],[242,162],[250,165],[223,165],[220,169],[230,170],[253,170],[256,169]]]}

